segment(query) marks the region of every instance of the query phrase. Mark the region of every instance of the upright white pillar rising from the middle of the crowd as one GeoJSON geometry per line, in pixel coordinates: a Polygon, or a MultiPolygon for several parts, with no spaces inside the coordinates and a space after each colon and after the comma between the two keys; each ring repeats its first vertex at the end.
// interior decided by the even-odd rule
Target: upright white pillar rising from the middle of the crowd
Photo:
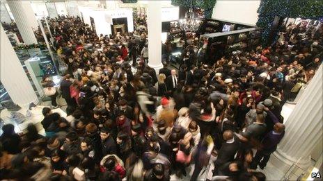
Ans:
{"type": "Polygon", "coordinates": [[[161,1],[148,1],[148,65],[157,72],[161,64],[161,1]]]}

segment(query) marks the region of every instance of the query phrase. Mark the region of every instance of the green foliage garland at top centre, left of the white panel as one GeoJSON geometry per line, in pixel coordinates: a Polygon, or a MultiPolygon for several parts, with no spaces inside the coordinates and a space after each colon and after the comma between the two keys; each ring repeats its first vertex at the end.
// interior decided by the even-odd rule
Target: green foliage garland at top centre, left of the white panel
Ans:
{"type": "MultiPolygon", "coordinates": [[[[204,17],[211,18],[215,3],[216,3],[216,0],[193,0],[192,6],[193,6],[193,8],[203,9],[204,10],[204,17]]],[[[191,1],[190,0],[172,0],[172,5],[190,8],[191,1]]]]}

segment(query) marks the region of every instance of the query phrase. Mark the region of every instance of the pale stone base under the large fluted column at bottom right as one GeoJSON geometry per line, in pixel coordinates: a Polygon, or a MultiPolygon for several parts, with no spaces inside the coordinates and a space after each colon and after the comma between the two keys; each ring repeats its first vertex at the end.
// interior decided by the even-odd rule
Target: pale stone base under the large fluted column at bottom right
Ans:
{"type": "Polygon", "coordinates": [[[270,160],[263,172],[266,176],[269,176],[269,178],[267,178],[268,180],[290,180],[292,178],[294,180],[294,177],[297,178],[309,168],[310,157],[293,158],[283,153],[282,150],[277,149],[271,154],[270,160]]]}

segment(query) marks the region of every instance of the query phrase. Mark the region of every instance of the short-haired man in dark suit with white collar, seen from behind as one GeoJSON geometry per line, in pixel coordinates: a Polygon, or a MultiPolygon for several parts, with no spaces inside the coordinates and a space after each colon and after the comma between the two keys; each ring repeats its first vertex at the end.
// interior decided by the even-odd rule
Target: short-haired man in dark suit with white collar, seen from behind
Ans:
{"type": "Polygon", "coordinates": [[[237,150],[239,150],[240,141],[235,137],[232,130],[224,131],[223,139],[226,142],[222,144],[219,150],[218,157],[214,162],[215,168],[219,168],[223,164],[233,161],[237,150]]]}

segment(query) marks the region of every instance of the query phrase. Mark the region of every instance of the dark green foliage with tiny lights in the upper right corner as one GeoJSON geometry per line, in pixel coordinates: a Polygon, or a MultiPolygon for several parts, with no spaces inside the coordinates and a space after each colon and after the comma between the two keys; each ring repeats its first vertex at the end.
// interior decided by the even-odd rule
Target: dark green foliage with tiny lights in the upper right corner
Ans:
{"type": "MultiPolygon", "coordinates": [[[[258,8],[257,26],[263,28],[262,43],[267,45],[275,17],[320,19],[323,17],[322,0],[262,0],[258,8]]],[[[275,32],[274,39],[277,38],[275,32]]]]}

